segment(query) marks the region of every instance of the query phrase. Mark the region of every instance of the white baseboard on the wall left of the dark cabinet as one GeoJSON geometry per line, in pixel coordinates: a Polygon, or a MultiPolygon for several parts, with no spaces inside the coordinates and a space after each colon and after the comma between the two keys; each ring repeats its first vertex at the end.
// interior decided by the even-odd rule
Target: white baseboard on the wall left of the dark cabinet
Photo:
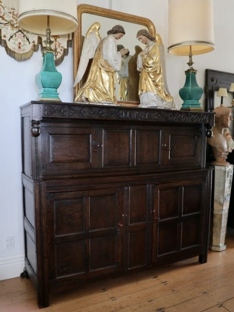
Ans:
{"type": "Polygon", "coordinates": [[[0,280],[19,277],[24,268],[24,253],[0,257],[0,280]]]}

